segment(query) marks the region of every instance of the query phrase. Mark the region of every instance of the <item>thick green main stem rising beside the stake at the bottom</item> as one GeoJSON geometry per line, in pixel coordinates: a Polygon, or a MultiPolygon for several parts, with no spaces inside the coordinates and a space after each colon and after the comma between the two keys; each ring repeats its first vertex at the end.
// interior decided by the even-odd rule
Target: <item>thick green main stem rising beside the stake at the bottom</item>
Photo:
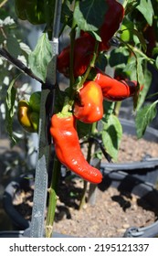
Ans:
{"type": "Polygon", "coordinates": [[[47,220],[46,220],[46,237],[51,238],[53,233],[53,223],[56,211],[56,205],[58,200],[58,178],[60,174],[60,162],[57,156],[54,158],[53,172],[51,178],[51,184],[48,188],[49,199],[47,208],[47,220]]]}

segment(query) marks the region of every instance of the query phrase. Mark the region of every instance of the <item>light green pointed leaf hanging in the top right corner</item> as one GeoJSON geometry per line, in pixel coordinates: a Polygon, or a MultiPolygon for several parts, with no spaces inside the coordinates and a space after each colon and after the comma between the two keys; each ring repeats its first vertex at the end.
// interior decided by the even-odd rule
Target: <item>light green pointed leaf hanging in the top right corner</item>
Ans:
{"type": "Polygon", "coordinates": [[[148,24],[152,26],[153,24],[153,5],[151,0],[141,0],[140,5],[137,9],[142,13],[142,16],[146,19],[148,24]]]}

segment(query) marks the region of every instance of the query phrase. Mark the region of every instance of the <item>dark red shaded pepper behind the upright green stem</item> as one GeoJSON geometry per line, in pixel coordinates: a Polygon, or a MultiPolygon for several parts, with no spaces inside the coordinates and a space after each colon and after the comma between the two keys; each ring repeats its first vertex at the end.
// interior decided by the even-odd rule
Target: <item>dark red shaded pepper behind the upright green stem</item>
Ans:
{"type": "MultiPolygon", "coordinates": [[[[90,64],[95,46],[95,38],[88,33],[75,40],[74,45],[74,77],[79,77],[84,74],[90,64]]],[[[70,46],[64,48],[57,59],[58,72],[69,77],[69,54],[70,46]]]]}

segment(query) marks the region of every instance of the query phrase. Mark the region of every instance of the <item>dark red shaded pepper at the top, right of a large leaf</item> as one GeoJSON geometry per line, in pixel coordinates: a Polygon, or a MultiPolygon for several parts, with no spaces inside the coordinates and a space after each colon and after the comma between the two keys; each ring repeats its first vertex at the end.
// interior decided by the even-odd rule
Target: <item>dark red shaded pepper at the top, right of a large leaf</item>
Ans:
{"type": "Polygon", "coordinates": [[[107,43],[113,37],[114,33],[119,29],[124,16],[124,8],[116,0],[106,0],[109,9],[105,14],[104,23],[100,27],[100,37],[102,43],[100,49],[106,50],[107,43]]]}

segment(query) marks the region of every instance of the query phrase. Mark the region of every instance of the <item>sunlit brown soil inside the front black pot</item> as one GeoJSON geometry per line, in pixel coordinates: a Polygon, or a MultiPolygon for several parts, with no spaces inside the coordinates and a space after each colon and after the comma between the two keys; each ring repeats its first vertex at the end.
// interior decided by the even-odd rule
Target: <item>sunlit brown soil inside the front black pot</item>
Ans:
{"type": "Polygon", "coordinates": [[[68,183],[60,187],[54,224],[54,230],[60,233],[75,237],[122,237],[126,229],[145,227],[157,218],[146,201],[115,187],[105,191],[98,188],[95,205],[86,204],[79,209],[79,180],[74,183],[73,189],[68,183]]]}

